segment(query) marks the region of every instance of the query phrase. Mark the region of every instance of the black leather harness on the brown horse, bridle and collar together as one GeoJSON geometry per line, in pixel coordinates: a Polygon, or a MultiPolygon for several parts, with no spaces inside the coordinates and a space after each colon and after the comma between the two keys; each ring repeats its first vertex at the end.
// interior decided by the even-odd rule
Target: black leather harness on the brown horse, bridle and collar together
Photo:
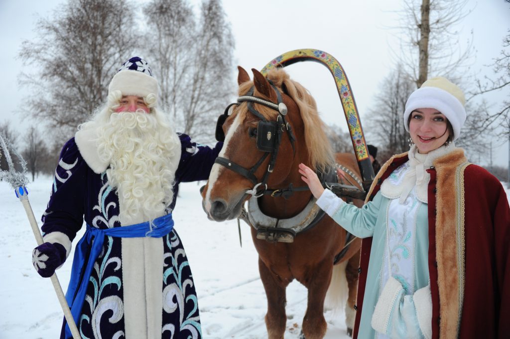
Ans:
{"type": "MultiPolygon", "coordinates": [[[[240,219],[244,220],[246,223],[251,224],[257,230],[257,238],[266,240],[269,242],[287,242],[291,243],[294,241],[294,237],[298,232],[302,232],[308,230],[315,226],[321,219],[324,217],[325,212],[322,211],[316,204],[315,198],[312,198],[304,210],[291,219],[277,219],[269,216],[265,216],[260,211],[258,207],[257,198],[261,197],[264,194],[270,194],[272,197],[284,197],[285,199],[290,198],[294,192],[298,191],[308,191],[310,190],[308,186],[302,187],[293,187],[292,184],[289,185],[286,189],[268,189],[267,187],[267,178],[270,173],[274,170],[274,165],[276,163],[276,158],[278,155],[279,146],[282,142],[282,134],[287,132],[289,137],[289,141],[292,145],[293,152],[295,153],[295,141],[296,137],[292,132],[292,127],[290,123],[286,119],[287,115],[287,106],[282,100],[282,96],[279,93],[278,89],[269,81],[270,85],[276,92],[278,103],[274,103],[268,101],[264,98],[253,96],[254,88],[251,87],[250,90],[243,96],[240,96],[237,99],[237,102],[233,102],[228,105],[223,112],[222,115],[218,117],[216,122],[216,140],[224,141],[225,134],[223,132],[223,124],[225,120],[228,118],[230,109],[234,105],[240,105],[242,102],[247,102],[247,108],[249,112],[253,115],[260,118],[260,121],[257,125],[257,128],[250,128],[248,130],[248,134],[251,138],[257,139],[257,148],[264,152],[262,158],[253,165],[252,168],[246,169],[235,162],[223,158],[218,157],[215,160],[216,164],[224,166],[243,177],[247,178],[251,182],[253,182],[253,189],[246,191],[246,194],[251,194],[252,197],[248,201],[248,211],[244,210],[241,213],[240,219]],[[258,112],[252,105],[252,102],[259,103],[266,107],[269,107],[278,112],[275,121],[268,121],[260,112],[258,112]],[[262,177],[262,181],[259,180],[254,175],[257,169],[261,166],[261,164],[266,160],[267,157],[271,155],[268,168],[262,177]],[[292,224],[297,222],[298,227],[294,229],[291,227],[292,224]],[[282,227],[284,226],[284,227],[282,227]]],[[[349,173],[349,175],[353,175],[349,173]]],[[[318,173],[319,178],[323,186],[327,188],[334,187],[336,184],[337,176],[336,171],[334,169],[330,169],[326,173],[318,173]],[[333,182],[333,184],[330,184],[333,182]]],[[[354,178],[355,176],[353,176],[354,178]]],[[[347,232],[346,244],[342,251],[335,257],[335,263],[338,262],[341,257],[345,254],[348,249],[350,243],[355,239],[349,232],[347,232]]]]}

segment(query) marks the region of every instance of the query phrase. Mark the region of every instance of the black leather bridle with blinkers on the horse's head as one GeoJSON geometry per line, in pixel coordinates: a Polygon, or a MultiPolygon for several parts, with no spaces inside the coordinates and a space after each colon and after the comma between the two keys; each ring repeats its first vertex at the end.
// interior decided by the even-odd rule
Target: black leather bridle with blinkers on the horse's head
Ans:
{"type": "MultiPolygon", "coordinates": [[[[250,138],[257,138],[257,148],[264,152],[262,158],[255,165],[253,165],[253,167],[251,167],[250,169],[246,169],[241,165],[236,164],[235,162],[223,157],[218,157],[214,161],[216,164],[222,165],[250,180],[254,186],[253,189],[246,191],[246,194],[251,194],[254,197],[260,197],[263,194],[267,194],[268,192],[266,182],[269,174],[272,173],[274,170],[278,150],[282,143],[282,134],[284,132],[287,132],[287,135],[289,136],[289,141],[292,145],[294,155],[296,151],[294,145],[296,137],[292,132],[292,127],[290,123],[286,119],[286,115],[288,112],[287,106],[283,102],[282,95],[280,94],[278,89],[271,82],[269,83],[276,92],[278,103],[268,101],[261,97],[253,96],[254,87],[251,87],[250,90],[245,95],[237,98],[237,102],[233,102],[230,105],[228,105],[223,114],[218,117],[218,121],[216,122],[216,140],[224,141],[225,135],[223,133],[222,127],[223,124],[225,123],[225,120],[228,118],[228,113],[232,106],[240,105],[242,102],[246,101],[248,111],[251,112],[256,117],[260,118],[260,121],[257,124],[257,128],[248,129],[248,134],[250,138]],[[278,115],[276,116],[276,120],[275,121],[267,120],[259,111],[257,111],[253,107],[252,105],[253,102],[260,103],[261,105],[264,105],[277,111],[278,115]],[[266,158],[269,157],[269,155],[270,155],[269,165],[267,167],[266,172],[264,173],[264,176],[262,177],[262,181],[259,182],[258,178],[254,175],[254,173],[262,165],[266,158]]],[[[272,194],[273,196],[274,192],[272,194]]]]}

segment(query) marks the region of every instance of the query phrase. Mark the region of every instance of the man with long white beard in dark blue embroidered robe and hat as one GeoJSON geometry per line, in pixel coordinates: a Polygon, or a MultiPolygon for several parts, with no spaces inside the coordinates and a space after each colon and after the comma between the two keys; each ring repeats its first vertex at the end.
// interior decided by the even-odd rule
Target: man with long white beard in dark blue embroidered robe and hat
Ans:
{"type": "MultiPolygon", "coordinates": [[[[174,133],[158,82],[134,57],[108,102],[63,147],[33,264],[53,275],[76,245],[66,299],[83,338],[201,338],[191,270],[173,228],[179,183],[205,180],[222,143],[174,133]]],[[[61,338],[71,337],[64,320],[61,338]]]]}

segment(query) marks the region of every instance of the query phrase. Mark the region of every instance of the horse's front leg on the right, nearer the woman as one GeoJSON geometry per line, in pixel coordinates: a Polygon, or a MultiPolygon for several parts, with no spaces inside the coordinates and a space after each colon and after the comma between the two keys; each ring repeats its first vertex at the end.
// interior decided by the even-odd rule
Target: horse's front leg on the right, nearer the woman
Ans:
{"type": "Polygon", "coordinates": [[[326,297],[333,262],[324,260],[310,272],[308,283],[308,305],[303,319],[303,334],[306,339],[322,339],[326,334],[327,324],[324,319],[324,299],[326,297]]]}

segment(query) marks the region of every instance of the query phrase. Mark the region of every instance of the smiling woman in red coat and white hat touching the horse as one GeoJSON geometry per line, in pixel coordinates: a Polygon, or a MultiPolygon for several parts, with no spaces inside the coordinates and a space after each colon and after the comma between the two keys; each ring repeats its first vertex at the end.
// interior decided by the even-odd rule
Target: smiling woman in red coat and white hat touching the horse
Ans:
{"type": "Polygon", "coordinates": [[[300,165],[317,204],[363,239],[354,337],[510,337],[510,207],[453,144],[464,94],[444,77],[406,102],[409,152],[382,166],[358,208],[300,165]]]}

